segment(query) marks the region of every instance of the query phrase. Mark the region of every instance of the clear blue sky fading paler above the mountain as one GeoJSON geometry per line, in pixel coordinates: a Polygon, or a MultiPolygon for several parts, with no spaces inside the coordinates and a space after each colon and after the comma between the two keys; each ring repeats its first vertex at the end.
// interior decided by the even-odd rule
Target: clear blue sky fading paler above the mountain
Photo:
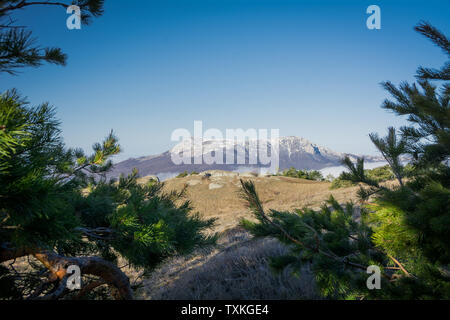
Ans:
{"type": "Polygon", "coordinates": [[[64,9],[17,15],[66,67],[1,75],[32,104],[57,107],[69,146],[89,150],[111,129],[118,159],[173,145],[176,128],[279,128],[341,152],[375,154],[368,134],[401,119],[380,108],[379,83],[440,67],[440,49],[413,30],[427,20],[450,34],[450,1],[106,0],[82,30],[64,9]],[[381,8],[382,29],[366,28],[381,8]]]}

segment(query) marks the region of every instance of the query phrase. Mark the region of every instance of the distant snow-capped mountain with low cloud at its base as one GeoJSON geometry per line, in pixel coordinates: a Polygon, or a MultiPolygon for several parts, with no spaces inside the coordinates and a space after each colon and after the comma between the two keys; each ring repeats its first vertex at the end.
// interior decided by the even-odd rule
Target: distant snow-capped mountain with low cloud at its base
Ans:
{"type": "MultiPolygon", "coordinates": [[[[191,157],[192,164],[177,165],[172,161],[174,155],[181,155],[183,150],[186,150],[191,146],[192,140],[184,140],[164,153],[158,155],[151,155],[140,158],[130,158],[128,160],[115,164],[112,170],[109,172],[109,177],[118,177],[120,174],[129,174],[133,168],[139,170],[140,176],[156,175],[161,180],[176,176],[177,174],[188,171],[202,172],[206,170],[226,170],[226,171],[259,171],[264,172],[268,170],[268,165],[261,164],[257,161],[256,164],[249,163],[249,155],[257,154],[258,146],[261,143],[267,143],[268,154],[271,154],[271,146],[274,142],[279,145],[279,164],[278,169],[283,170],[286,168],[294,167],[296,169],[303,170],[320,170],[327,167],[335,167],[341,165],[340,160],[346,155],[352,160],[356,160],[358,155],[349,153],[340,153],[331,149],[318,146],[304,138],[300,137],[281,137],[275,140],[263,141],[257,140],[255,144],[251,143],[238,143],[230,142],[229,140],[203,140],[197,141],[196,148],[200,148],[199,153],[193,152],[193,155],[210,154],[215,155],[217,152],[222,152],[224,161],[223,164],[194,164],[198,163],[194,157],[191,157]],[[245,150],[245,163],[237,164],[237,150],[245,150]],[[235,161],[233,164],[226,164],[225,155],[227,152],[234,153],[235,161]]],[[[275,149],[276,150],[276,149],[275,149]]],[[[198,150],[197,150],[198,151],[198,150]]],[[[364,156],[366,162],[379,162],[384,159],[376,156],[364,156]]],[[[201,161],[200,161],[201,162],[201,161]]]]}

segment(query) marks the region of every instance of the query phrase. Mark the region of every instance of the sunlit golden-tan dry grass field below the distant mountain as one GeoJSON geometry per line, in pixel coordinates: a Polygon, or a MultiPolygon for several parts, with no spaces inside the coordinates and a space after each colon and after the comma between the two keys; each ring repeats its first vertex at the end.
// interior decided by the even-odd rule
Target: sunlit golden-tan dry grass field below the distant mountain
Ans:
{"type": "MultiPolygon", "coordinates": [[[[340,202],[356,200],[357,187],[330,190],[329,182],[277,176],[243,179],[255,182],[256,190],[267,209],[293,210],[305,206],[319,208],[330,195],[340,202]]],[[[196,175],[175,178],[165,182],[165,190],[181,190],[185,184],[188,184],[187,198],[192,202],[194,211],[200,212],[205,218],[218,219],[216,232],[236,227],[242,218],[252,218],[245,202],[239,197],[239,177],[202,179],[202,176],[196,175]],[[223,187],[210,190],[211,183],[223,187]]]]}

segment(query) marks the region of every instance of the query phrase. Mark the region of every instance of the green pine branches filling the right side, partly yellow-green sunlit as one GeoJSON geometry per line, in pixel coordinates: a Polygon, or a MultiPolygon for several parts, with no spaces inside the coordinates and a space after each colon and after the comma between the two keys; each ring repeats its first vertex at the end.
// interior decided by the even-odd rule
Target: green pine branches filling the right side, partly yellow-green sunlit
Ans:
{"type": "MultiPolygon", "coordinates": [[[[448,51],[445,36],[430,25],[416,28],[448,51]]],[[[447,63],[448,65],[448,63],[447,63]]],[[[423,71],[423,72],[422,72],[423,71]]],[[[439,76],[448,80],[445,68],[439,76]]],[[[437,72],[436,72],[437,75],[437,72]]],[[[322,294],[329,298],[450,299],[450,90],[428,80],[383,83],[393,97],[382,107],[406,116],[409,126],[388,129],[370,139],[389,164],[398,184],[374,179],[364,159],[342,160],[341,178],[360,184],[361,204],[338,204],[321,210],[264,211],[254,185],[242,181],[243,198],[258,222],[244,220],[255,236],[272,236],[290,245],[291,253],[272,261],[275,269],[298,272],[309,265],[322,294]],[[410,159],[405,168],[404,156],[410,159]],[[368,266],[382,272],[381,289],[366,286],[368,266]]]]}

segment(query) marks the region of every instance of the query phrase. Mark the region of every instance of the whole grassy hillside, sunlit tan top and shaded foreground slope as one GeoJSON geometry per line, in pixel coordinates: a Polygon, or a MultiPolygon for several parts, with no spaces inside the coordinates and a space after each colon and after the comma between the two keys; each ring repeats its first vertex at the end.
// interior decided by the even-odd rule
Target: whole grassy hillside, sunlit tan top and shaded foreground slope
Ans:
{"type": "MultiPolygon", "coordinates": [[[[330,194],[339,201],[355,199],[357,187],[330,190],[331,183],[298,178],[252,174],[236,175],[214,171],[174,178],[165,189],[181,190],[194,212],[217,218],[218,245],[195,251],[185,257],[170,259],[151,275],[127,270],[137,284],[139,299],[320,299],[308,267],[297,278],[285,270],[272,272],[269,257],[285,254],[287,249],[275,239],[253,239],[240,228],[242,218],[252,215],[239,197],[239,179],[251,179],[266,208],[289,210],[303,206],[319,207],[330,194]],[[221,176],[222,175],[222,176],[221,176]]],[[[141,178],[141,182],[149,178],[141,178]]]]}

